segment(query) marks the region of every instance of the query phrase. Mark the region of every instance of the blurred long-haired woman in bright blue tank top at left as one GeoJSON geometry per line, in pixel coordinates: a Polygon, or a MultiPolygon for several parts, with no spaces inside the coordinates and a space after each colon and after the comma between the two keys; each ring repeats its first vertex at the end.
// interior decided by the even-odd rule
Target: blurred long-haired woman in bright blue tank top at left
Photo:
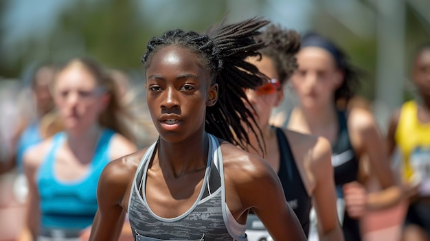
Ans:
{"type": "Polygon", "coordinates": [[[52,91],[64,131],[27,150],[23,159],[31,240],[78,240],[98,209],[103,168],[135,152],[113,87],[89,58],[73,58],[58,69],[52,91]]]}

